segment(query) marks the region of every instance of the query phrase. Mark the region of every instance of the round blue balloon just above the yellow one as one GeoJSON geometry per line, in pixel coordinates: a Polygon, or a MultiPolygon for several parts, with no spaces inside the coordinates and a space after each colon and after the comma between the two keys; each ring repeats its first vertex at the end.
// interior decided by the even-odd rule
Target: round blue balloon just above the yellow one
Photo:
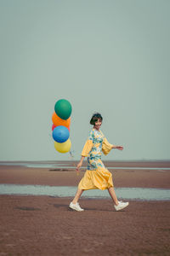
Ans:
{"type": "Polygon", "coordinates": [[[54,128],[53,138],[55,142],[65,143],[68,140],[69,136],[70,132],[65,126],[59,125],[54,128]]]}

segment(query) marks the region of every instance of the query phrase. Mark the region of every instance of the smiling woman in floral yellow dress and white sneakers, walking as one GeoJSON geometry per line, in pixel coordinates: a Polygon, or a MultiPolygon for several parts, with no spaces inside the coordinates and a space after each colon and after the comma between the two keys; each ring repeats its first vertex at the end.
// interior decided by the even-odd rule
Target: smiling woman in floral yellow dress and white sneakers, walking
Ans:
{"type": "Polygon", "coordinates": [[[108,154],[112,148],[122,150],[122,146],[115,146],[106,140],[103,133],[99,130],[102,124],[102,116],[100,113],[94,113],[90,124],[94,125],[94,129],[90,131],[88,141],[82,149],[82,158],[77,165],[77,172],[82,166],[82,161],[88,157],[88,169],[78,184],[77,194],[70,203],[70,208],[78,212],[84,211],[78,203],[83,190],[88,189],[108,189],[114,203],[116,211],[122,210],[128,206],[128,202],[118,201],[115,190],[113,188],[112,174],[109,172],[101,161],[101,152],[108,154]]]}

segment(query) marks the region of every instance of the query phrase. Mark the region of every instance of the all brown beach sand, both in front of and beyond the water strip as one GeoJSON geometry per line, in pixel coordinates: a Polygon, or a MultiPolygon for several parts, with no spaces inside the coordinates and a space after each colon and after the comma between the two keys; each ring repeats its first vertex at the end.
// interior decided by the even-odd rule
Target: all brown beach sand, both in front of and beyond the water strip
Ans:
{"type": "MultiPolygon", "coordinates": [[[[114,171],[115,185],[169,189],[170,171],[131,171],[114,171]]],[[[0,181],[77,185],[83,173],[0,166],[0,181]]],[[[68,208],[71,198],[1,195],[0,201],[0,255],[170,255],[170,201],[130,201],[121,212],[108,199],[82,198],[84,212],[68,208]]]]}

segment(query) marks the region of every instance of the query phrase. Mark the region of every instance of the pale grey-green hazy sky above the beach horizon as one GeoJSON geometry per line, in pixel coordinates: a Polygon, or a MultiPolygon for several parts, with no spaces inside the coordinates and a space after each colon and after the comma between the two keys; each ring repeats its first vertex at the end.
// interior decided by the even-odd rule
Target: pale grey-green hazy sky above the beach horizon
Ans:
{"type": "Polygon", "coordinates": [[[103,160],[170,160],[169,0],[0,0],[0,160],[70,160],[52,114],[71,102],[71,152],[92,129],[103,160]]]}

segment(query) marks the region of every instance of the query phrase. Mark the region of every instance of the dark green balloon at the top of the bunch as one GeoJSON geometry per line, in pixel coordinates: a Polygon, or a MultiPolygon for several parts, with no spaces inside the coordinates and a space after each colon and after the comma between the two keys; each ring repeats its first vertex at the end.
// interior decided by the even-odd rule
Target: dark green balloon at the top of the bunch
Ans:
{"type": "Polygon", "coordinates": [[[71,103],[67,100],[59,100],[55,103],[54,107],[55,113],[59,116],[60,119],[68,119],[71,116],[71,103]]]}

